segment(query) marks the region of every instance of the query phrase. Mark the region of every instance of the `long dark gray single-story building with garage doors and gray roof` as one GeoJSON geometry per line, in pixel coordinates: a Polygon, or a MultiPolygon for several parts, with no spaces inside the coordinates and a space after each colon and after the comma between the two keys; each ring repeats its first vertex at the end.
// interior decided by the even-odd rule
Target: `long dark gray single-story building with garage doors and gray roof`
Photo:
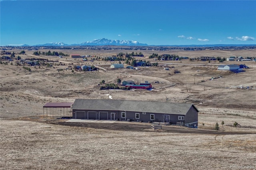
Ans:
{"type": "Polygon", "coordinates": [[[76,99],[73,119],[161,122],[198,126],[198,109],[189,103],[76,99]]]}

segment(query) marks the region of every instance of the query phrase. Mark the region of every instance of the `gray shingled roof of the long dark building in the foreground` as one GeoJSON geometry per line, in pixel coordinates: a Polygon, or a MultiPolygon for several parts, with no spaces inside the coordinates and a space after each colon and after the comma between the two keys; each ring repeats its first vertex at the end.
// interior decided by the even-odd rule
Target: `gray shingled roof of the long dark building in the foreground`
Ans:
{"type": "MultiPolygon", "coordinates": [[[[113,110],[186,115],[191,103],[167,103],[156,101],[76,99],[72,109],[113,110]]],[[[196,107],[194,107],[196,109],[196,107]]],[[[196,109],[198,111],[198,109],[196,109]]]]}

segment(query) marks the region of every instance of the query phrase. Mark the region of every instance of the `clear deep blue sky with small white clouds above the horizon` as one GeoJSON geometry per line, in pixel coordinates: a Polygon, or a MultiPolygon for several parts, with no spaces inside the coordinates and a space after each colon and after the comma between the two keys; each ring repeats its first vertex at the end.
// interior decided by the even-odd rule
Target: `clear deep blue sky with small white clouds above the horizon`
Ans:
{"type": "Polygon", "coordinates": [[[256,44],[256,1],[1,0],[0,45],[256,44]]]}

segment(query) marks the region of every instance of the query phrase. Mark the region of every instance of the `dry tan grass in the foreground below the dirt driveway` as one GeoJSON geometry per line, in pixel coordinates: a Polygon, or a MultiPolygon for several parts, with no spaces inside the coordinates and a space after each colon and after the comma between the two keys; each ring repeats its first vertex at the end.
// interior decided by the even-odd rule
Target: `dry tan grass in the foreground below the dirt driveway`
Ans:
{"type": "Polygon", "coordinates": [[[228,169],[255,165],[256,134],[127,132],[1,120],[4,169],[228,169]]]}

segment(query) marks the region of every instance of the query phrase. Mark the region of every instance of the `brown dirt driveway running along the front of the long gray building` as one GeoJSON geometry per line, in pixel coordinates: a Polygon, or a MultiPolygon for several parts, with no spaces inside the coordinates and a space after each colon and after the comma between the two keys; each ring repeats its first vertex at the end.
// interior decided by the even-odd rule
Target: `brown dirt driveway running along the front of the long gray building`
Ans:
{"type": "Polygon", "coordinates": [[[162,130],[153,130],[151,123],[137,123],[137,122],[126,122],[126,121],[114,121],[114,123],[108,123],[109,121],[98,121],[90,120],[84,122],[84,120],[70,122],[73,119],[40,119],[40,117],[20,117],[14,118],[23,121],[34,121],[38,123],[46,123],[52,125],[62,125],[69,127],[84,127],[84,128],[98,128],[106,130],[122,130],[122,131],[137,131],[137,132],[168,132],[168,133],[186,133],[186,134],[256,134],[256,132],[230,132],[230,131],[216,131],[216,130],[203,130],[199,128],[187,128],[187,127],[176,127],[175,125],[164,126],[162,130]]]}

